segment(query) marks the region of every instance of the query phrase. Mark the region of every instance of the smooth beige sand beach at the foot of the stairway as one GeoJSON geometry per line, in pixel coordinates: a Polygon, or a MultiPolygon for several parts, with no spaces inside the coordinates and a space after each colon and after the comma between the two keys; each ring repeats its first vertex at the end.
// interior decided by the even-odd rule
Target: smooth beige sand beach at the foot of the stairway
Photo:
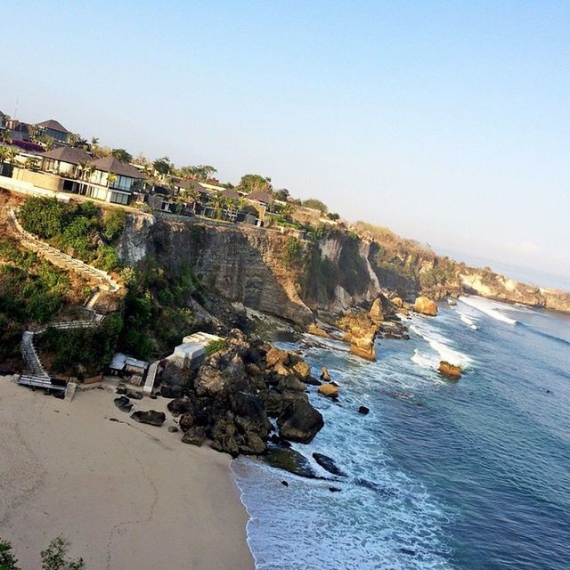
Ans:
{"type": "Polygon", "coordinates": [[[0,537],[20,566],[39,568],[62,534],[87,570],[253,568],[228,456],[182,444],[170,419],[135,422],[113,398],[95,388],[69,403],[0,377],[0,537]]]}

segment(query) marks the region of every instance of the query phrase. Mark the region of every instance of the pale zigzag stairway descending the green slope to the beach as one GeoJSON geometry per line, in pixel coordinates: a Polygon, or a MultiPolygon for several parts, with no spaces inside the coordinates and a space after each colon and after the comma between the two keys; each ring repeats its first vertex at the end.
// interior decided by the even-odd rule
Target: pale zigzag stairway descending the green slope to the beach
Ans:
{"type": "Polygon", "coordinates": [[[53,248],[36,236],[26,232],[20,225],[16,213],[13,209],[10,210],[9,220],[14,229],[15,237],[20,240],[20,243],[25,248],[28,248],[38,256],[45,257],[53,265],[57,265],[67,271],[78,273],[85,277],[88,281],[96,281],[97,287],[94,289],[93,294],[89,297],[84,305],[84,309],[89,315],[88,319],[81,321],[68,321],[68,322],[53,322],[45,327],[36,330],[25,330],[22,334],[20,348],[24,362],[28,365],[29,373],[20,374],[18,379],[19,384],[34,386],[34,387],[49,387],[54,388],[49,374],[45,371],[42,362],[37,355],[36,347],[34,346],[34,337],[37,334],[45,332],[48,329],[55,330],[68,330],[68,329],[85,329],[97,326],[102,322],[104,315],[95,311],[97,300],[101,291],[110,291],[112,293],[118,292],[121,285],[112,279],[109,273],[97,269],[93,265],[85,264],[85,262],[75,257],[68,256],[57,248],[53,248]]]}

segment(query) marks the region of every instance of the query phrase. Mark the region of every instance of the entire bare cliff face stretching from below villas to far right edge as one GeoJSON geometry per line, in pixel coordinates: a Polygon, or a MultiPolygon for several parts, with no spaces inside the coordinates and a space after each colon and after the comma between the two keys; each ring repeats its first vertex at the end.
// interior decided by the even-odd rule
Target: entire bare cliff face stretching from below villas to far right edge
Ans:
{"type": "MultiPolygon", "coordinates": [[[[371,227],[371,226],[368,226],[371,227]]],[[[311,239],[245,225],[128,216],[119,254],[129,264],[190,265],[216,295],[307,324],[315,311],[369,306],[385,293],[413,300],[477,294],[570,311],[570,294],[539,289],[436,256],[411,240],[329,231],[311,239]]]]}

